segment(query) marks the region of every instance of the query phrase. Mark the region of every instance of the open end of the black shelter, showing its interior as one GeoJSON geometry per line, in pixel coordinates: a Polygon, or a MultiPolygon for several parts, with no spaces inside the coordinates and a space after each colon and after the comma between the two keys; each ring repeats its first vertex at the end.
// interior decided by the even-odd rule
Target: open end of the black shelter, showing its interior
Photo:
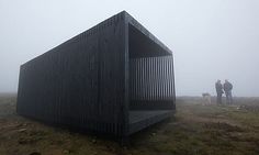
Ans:
{"type": "Polygon", "coordinates": [[[172,54],[128,25],[130,132],[167,118],[173,109],[172,54]]]}

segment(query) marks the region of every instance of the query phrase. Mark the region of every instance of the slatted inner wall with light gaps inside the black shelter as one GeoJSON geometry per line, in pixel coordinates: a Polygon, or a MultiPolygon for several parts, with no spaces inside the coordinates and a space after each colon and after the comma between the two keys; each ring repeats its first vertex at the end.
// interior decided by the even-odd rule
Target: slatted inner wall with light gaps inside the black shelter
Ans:
{"type": "Polygon", "coordinates": [[[171,109],[174,99],[172,56],[130,60],[131,110],[171,109]]]}

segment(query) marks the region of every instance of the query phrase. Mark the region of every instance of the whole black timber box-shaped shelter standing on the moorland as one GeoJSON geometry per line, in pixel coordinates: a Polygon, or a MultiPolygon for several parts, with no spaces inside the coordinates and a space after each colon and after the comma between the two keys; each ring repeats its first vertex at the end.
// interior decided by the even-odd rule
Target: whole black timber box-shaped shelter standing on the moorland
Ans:
{"type": "Polygon", "coordinates": [[[176,110],[172,53],[125,11],[20,68],[16,111],[127,136],[176,110]]]}

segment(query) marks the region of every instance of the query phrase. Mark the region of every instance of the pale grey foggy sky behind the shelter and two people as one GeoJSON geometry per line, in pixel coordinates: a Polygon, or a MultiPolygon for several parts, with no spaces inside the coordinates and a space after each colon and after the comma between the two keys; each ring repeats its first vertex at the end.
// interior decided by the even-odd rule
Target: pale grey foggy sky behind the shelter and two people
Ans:
{"type": "Polygon", "coordinates": [[[259,96],[258,0],[0,0],[0,92],[16,92],[21,64],[127,11],[174,56],[177,96],[259,96]]]}

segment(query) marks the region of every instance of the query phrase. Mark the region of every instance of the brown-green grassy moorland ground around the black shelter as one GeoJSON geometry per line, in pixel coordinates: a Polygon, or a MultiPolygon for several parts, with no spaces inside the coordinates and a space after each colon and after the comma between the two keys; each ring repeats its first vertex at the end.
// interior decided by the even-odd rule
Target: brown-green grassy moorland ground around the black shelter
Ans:
{"type": "Polygon", "coordinates": [[[258,155],[259,98],[203,106],[181,97],[177,114],[134,134],[130,145],[53,128],[15,114],[15,96],[0,95],[0,155],[258,155]]]}

